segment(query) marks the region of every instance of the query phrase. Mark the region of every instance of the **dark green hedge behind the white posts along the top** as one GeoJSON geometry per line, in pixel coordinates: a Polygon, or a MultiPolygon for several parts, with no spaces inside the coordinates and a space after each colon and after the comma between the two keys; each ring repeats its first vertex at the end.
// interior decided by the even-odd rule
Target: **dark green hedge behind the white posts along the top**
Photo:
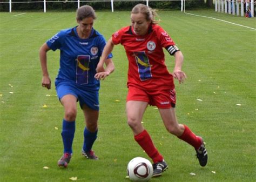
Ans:
{"type": "MultiPolygon", "coordinates": [[[[4,0],[4,2],[9,2],[9,0],[4,0]]],[[[12,1],[12,2],[22,2],[19,1],[12,1]]],[[[42,0],[23,0],[23,2],[31,2],[31,3],[12,3],[12,10],[14,11],[24,11],[24,10],[43,10],[43,3],[42,0]],[[41,3],[33,3],[33,2],[41,2],[41,3]]],[[[122,2],[114,2],[114,9],[115,10],[131,10],[134,5],[138,3],[144,3],[141,1],[122,1],[122,2]]],[[[82,5],[91,5],[96,10],[110,10],[111,9],[111,2],[80,2],[80,6],[82,5]]],[[[177,10],[180,9],[180,1],[150,1],[149,5],[152,8],[156,9],[172,9],[177,10]]],[[[186,1],[186,8],[201,8],[205,6],[204,0],[191,0],[186,1]]],[[[69,9],[77,9],[77,2],[76,1],[56,1],[56,2],[48,2],[46,3],[47,10],[69,10],[69,9]]],[[[0,3],[0,11],[9,11],[9,3],[0,3]]]]}

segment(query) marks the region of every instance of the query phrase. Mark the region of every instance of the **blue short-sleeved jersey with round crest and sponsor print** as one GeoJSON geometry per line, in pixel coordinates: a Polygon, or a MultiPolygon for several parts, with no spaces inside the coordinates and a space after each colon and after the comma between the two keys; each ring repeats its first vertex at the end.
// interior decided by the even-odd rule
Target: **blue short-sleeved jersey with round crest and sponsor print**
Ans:
{"type": "MultiPolygon", "coordinates": [[[[56,85],[60,82],[69,82],[91,91],[99,90],[99,80],[94,76],[106,41],[98,31],[92,29],[89,38],[81,39],[76,27],[61,30],[46,44],[53,51],[60,50],[60,68],[56,85]]],[[[111,57],[112,54],[107,58],[111,57]]]]}

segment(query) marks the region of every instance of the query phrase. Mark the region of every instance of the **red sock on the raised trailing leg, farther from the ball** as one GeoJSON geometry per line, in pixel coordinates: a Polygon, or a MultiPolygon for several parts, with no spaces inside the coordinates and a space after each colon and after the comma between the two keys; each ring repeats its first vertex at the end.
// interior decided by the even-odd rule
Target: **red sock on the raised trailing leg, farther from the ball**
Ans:
{"type": "Polygon", "coordinates": [[[196,134],[194,134],[186,125],[184,125],[184,127],[185,127],[185,130],[183,134],[178,138],[192,145],[194,149],[196,150],[199,149],[199,147],[202,144],[201,138],[197,137],[196,134]]]}

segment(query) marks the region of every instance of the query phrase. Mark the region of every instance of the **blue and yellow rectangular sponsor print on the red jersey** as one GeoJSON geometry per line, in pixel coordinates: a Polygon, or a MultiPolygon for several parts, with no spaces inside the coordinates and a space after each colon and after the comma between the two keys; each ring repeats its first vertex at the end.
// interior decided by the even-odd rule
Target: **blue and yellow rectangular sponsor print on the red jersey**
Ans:
{"type": "Polygon", "coordinates": [[[144,81],[152,78],[151,66],[149,58],[146,56],[146,53],[143,52],[134,52],[134,57],[138,66],[138,73],[140,80],[144,81]]]}

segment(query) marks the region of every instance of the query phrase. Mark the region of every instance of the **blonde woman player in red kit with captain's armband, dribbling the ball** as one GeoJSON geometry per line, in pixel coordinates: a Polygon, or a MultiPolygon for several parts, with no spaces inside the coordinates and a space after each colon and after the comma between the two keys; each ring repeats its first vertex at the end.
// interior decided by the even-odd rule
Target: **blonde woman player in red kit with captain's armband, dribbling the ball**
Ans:
{"type": "Polygon", "coordinates": [[[114,45],[124,46],[129,60],[127,123],[133,131],[134,139],[153,160],[153,177],[158,177],[168,168],[168,165],[141,123],[147,105],[158,107],[167,131],[194,147],[201,166],[207,163],[207,151],[203,139],[177,121],[173,77],[178,79],[179,83],[183,83],[186,78],[185,73],[181,71],[183,54],[168,33],[157,25],[155,16],[156,12],[144,4],[134,6],[131,11],[131,26],[126,26],[112,35],[96,70],[104,71],[103,63],[114,45]],[[175,58],[172,74],[167,71],[164,63],[163,48],[175,58]]]}

